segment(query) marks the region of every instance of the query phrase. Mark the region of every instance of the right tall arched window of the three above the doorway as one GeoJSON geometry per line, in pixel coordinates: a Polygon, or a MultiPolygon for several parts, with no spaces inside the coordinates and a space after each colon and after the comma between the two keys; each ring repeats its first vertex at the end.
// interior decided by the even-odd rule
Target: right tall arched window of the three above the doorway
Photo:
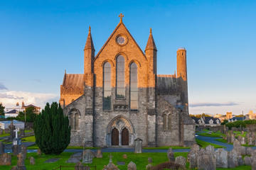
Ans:
{"type": "Polygon", "coordinates": [[[138,74],[137,74],[137,64],[134,62],[130,66],[130,109],[138,109],[138,74]]]}

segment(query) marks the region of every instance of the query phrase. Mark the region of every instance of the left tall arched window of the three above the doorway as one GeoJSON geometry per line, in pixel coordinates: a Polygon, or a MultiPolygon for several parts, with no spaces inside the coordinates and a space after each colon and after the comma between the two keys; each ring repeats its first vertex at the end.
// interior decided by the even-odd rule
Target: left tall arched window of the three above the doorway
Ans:
{"type": "Polygon", "coordinates": [[[103,66],[103,109],[111,109],[111,65],[109,62],[103,66]]]}

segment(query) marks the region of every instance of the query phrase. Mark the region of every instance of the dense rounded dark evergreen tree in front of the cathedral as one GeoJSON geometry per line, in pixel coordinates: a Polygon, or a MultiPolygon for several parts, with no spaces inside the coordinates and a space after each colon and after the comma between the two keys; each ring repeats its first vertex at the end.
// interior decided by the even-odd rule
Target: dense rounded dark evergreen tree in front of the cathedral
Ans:
{"type": "Polygon", "coordinates": [[[70,143],[68,116],[58,103],[46,103],[34,122],[36,145],[45,154],[60,154],[70,143]]]}

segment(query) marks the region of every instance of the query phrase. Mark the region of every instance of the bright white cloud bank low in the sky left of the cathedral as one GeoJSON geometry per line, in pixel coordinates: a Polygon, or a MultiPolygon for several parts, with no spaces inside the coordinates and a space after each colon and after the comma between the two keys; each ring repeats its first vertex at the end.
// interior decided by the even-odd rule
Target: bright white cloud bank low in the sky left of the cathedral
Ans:
{"type": "Polygon", "coordinates": [[[58,101],[58,94],[33,93],[28,91],[6,91],[0,93],[0,103],[6,107],[13,107],[24,101],[25,105],[34,104],[44,108],[47,102],[58,101]]]}

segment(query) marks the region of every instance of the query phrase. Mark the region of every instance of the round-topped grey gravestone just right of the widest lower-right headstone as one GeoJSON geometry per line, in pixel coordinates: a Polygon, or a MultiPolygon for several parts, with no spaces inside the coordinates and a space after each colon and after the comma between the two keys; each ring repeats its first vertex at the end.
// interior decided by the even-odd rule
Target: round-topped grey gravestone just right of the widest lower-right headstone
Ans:
{"type": "Polygon", "coordinates": [[[223,149],[217,149],[215,151],[216,168],[228,168],[228,152],[223,149]]]}

